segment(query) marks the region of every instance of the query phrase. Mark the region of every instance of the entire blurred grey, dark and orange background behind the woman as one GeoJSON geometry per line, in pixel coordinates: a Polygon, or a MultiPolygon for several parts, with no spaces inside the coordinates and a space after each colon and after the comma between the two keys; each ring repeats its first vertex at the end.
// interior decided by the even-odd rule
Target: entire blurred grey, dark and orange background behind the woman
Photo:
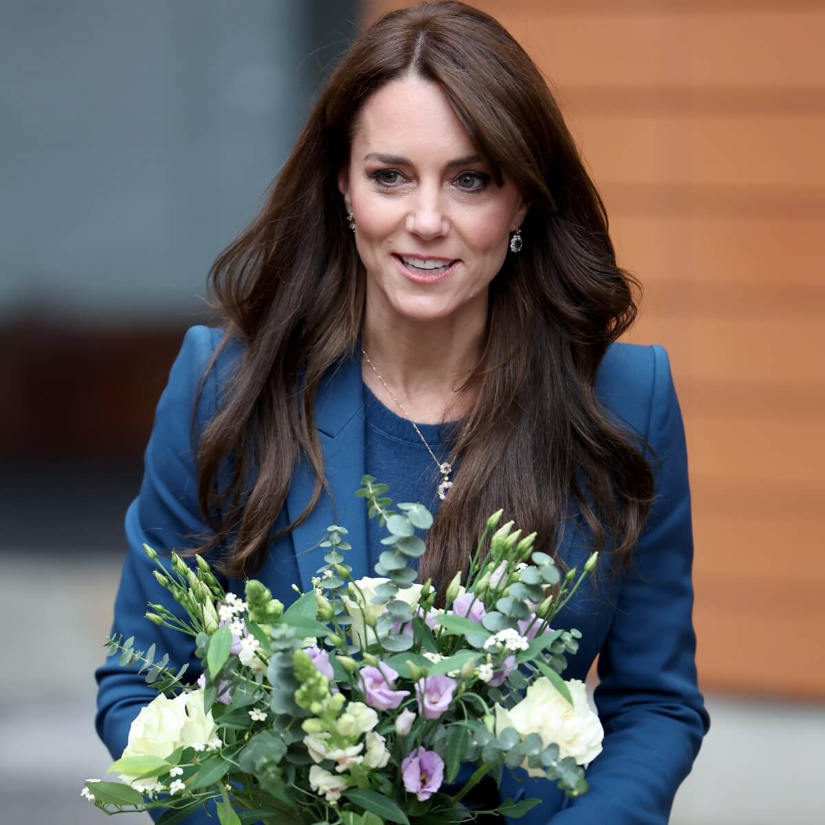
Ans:
{"type": "MultiPolygon", "coordinates": [[[[4,823],[102,821],[92,672],[154,405],[318,84],[400,5],[0,3],[4,823]]],[[[713,719],[672,822],[822,822],[825,3],[475,5],[559,97],[645,286],[628,340],[672,358],[713,719]]]]}

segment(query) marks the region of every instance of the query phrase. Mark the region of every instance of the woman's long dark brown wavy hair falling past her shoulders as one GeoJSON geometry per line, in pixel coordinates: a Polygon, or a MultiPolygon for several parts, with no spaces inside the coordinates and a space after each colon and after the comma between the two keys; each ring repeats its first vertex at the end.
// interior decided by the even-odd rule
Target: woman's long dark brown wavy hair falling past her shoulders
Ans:
{"type": "Polygon", "coordinates": [[[530,201],[524,248],[490,286],[469,379],[479,393],[457,436],[460,467],[428,536],[422,580],[446,582],[464,568],[479,524],[498,507],[552,553],[573,500],[594,549],[610,541],[625,565],[653,474],[594,384],[606,348],[634,322],[639,285],[616,265],[601,197],[540,71],[493,17],[462,2],[389,12],[356,40],[261,213],[214,262],[224,342],[245,347],[200,437],[199,502],[214,535],[198,552],[228,544],[224,572],[255,572],[301,455],[314,469],[314,497],[281,535],[322,492],[314,398],[324,373],[355,354],[365,290],[337,172],[365,99],[408,73],[440,84],[497,183],[507,176],[530,201]],[[231,477],[216,489],[224,464],[231,477]]]}

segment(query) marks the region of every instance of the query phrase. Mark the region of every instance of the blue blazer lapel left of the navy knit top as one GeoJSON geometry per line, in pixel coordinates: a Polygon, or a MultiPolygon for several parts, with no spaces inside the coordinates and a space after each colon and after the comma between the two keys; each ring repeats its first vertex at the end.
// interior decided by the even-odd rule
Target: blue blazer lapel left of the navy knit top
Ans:
{"type": "MultiPolygon", "coordinates": [[[[367,573],[366,506],[364,499],[355,495],[364,475],[365,449],[364,394],[358,358],[342,362],[336,370],[324,376],[315,399],[315,422],[329,492],[322,491],[307,520],[290,534],[304,592],[312,587],[311,579],[324,563],[323,556],[328,548],[319,544],[332,524],[349,530],[347,540],[352,549],[344,556],[352,568],[352,577],[361,578],[367,573]]],[[[304,512],[312,497],[313,486],[312,468],[302,458],[286,496],[290,521],[304,512]]]]}

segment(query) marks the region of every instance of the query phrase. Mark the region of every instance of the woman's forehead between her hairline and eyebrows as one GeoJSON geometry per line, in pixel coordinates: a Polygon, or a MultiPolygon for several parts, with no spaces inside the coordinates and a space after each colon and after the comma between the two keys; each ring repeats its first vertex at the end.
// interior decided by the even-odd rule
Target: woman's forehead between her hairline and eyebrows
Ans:
{"type": "Polygon", "coordinates": [[[412,77],[385,83],[367,98],[356,119],[352,149],[356,163],[370,152],[437,163],[476,151],[441,86],[412,77]]]}

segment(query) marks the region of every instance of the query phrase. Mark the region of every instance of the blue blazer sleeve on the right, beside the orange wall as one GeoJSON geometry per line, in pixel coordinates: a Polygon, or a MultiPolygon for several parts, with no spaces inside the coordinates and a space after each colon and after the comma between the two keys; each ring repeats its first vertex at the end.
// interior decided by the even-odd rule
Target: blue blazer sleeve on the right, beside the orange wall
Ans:
{"type": "Polygon", "coordinates": [[[659,459],[656,500],[599,656],[604,750],[587,771],[590,790],[557,813],[554,825],[666,825],[709,728],[696,684],[685,429],[667,351],[652,350],[647,437],[659,459]]]}

